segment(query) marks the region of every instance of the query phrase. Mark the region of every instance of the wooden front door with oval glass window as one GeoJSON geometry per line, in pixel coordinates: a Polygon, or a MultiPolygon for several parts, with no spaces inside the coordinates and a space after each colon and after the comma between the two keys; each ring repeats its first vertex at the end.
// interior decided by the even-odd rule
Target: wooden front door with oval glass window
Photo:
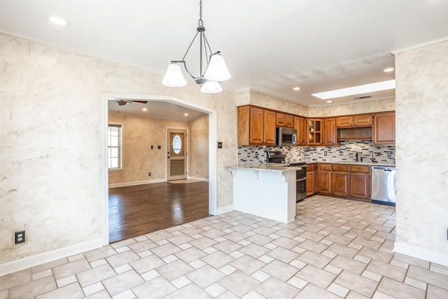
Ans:
{"type": "Polygon", "coordinates": [[[168,129],[168,181],[187,178],[187,130],[168,129]]]}

